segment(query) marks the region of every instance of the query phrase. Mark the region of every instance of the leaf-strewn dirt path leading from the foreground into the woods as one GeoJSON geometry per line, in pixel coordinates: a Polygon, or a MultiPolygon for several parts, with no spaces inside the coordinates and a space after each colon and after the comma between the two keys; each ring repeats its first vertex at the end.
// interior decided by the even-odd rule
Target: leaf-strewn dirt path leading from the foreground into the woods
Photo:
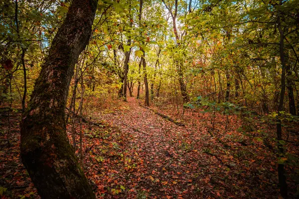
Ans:
{"type": "MultiPolygon", "coordinates": [[[[123,133],[133,136],[126,148],[144,163],[138,165],[141,174],[136,176],[138,196],[202,198],[211,193],[220,196],[218,186],[206,185],[214,172],[210,170],[223,167],[201,150],[202,141],[210,138],[198,139],[194,136],[196,132],[139,106],[134,98],[129,98],[127,104],[127,110],[104,114],[102,119],[112,121],[123,133]]],[[[220,185],[225,186],[221,182],[220,185]]]]}

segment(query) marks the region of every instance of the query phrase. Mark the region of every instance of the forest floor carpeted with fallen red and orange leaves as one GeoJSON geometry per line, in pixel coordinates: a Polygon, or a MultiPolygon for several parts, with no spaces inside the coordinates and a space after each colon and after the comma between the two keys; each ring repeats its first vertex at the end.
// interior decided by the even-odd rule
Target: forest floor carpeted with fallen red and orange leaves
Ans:
{"type": "MultiPolygon", "coordinates": [[[[171,114],[170,109],[151,108],[171,114]]],[[[105,109],[95,107],[88,117],[89,122],[83,123],[83,168],[97,198],[279,196],[275,145],[238,132],[236,116],[229,117],[228,126],[219,119],[211,128],[207,114],[186,111],[185,125],[179,126],[129,98],[105,109]]],[[[6,118],[1,118],[0,196],[35,199],[39,198],[36,189],[20,161],[18,118],[12,117],[9,148],[6,118]]],[[[71,140],[70,132],[68,136],[71,140]]],[[[296,136],[292,139],[298,143],[296,136]]],[[[77,144],[79,157],[78,148],[77,144]]],[[[298,147],[291,148],[298,153],[298,147]]],[[[292,180],[289,188],[294,196],[292,180]]]]}

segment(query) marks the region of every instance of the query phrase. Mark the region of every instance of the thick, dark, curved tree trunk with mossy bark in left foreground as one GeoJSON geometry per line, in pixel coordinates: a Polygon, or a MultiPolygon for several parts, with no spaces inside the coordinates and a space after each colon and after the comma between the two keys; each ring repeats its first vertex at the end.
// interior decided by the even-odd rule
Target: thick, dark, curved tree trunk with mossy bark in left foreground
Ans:
{"type": "Polygon", "coordinates": [[[66,135],[74,66],[91,35],[97,0],[73,0],[21,121],[21,158],[42,199],[95,199],[66,135]]]}

